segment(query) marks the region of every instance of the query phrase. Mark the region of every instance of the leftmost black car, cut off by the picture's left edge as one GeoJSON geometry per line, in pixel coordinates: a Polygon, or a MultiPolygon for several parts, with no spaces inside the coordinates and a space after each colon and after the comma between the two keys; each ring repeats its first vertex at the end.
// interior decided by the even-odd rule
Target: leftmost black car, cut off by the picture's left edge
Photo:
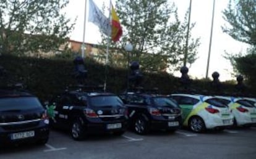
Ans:
{"type": "Polygon", "coordinates": [[[0,89],[0,146],[37,142],[49,137],[49,119],[37,97],[28,92],[0,89]]]}

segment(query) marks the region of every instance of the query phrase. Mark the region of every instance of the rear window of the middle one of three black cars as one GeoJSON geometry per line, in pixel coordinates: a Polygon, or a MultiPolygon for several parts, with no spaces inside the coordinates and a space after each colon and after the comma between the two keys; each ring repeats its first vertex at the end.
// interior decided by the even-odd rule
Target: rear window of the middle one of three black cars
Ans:
{"type": "Polygon", "coordinates": [[[94,96],[90,97],[90,105],[93,107],[118,107],[122,106],[122,100],[117,96],[94,96]]]}

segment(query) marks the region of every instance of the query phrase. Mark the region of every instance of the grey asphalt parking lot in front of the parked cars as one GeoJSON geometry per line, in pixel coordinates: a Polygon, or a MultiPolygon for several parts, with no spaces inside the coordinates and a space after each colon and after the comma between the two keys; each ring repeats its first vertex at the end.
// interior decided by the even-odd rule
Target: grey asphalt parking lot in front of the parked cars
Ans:
{"type": "Polygon", "coordinates": [[[0,157],[14,158],[255,158],[256,128],[227,129],[196,134],[151,132],[140,136],[127,131],[116,137],[90,136],[74,141],[68,133],[51,131],[48,144],[1,149],[0,157]]]}

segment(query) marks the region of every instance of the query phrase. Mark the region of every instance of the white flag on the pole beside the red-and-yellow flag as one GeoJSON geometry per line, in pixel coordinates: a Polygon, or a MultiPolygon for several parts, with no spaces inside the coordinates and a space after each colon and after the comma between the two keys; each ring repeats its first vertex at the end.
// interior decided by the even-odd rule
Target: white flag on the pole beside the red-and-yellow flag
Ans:
{"type": "Polygon", "coordinates": [[[100,30],[107,36],[111,36],[111,25],[109,18],[107,18],[101,10],[95,5],[93,0],[89,0],[89,22],[95,23],[100,30]]]}

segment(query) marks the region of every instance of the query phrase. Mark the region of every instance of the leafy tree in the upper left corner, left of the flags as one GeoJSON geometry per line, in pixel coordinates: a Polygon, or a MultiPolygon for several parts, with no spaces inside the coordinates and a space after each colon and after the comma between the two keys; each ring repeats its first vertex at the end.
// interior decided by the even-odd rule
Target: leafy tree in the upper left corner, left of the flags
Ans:
{"type": "Polygon", "coordinates": [[[0,0],[0,54],[53,51],[74,23],[61,14],[68,0],[0,0]]]}

